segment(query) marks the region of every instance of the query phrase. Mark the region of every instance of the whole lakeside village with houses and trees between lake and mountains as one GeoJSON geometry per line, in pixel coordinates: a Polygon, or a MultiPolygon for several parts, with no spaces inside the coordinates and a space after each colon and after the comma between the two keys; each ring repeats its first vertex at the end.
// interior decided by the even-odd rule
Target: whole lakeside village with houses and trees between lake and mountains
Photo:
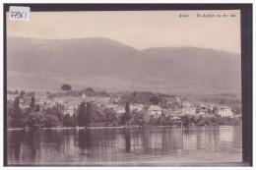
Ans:
{"type": "MultiPolygon", "coordinates": [[[[66,87],[65,87],[66,86],[66,87]]],[[[7,91],[7,127],[185,127],[241,124],[240,109],[153,92],[7,91]]]]}

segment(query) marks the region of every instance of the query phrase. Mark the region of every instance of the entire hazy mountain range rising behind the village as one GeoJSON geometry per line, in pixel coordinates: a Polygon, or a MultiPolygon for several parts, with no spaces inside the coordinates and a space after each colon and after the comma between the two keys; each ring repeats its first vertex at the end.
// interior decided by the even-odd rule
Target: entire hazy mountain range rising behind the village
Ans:
{"type": "MultiPolygon", "coordinates": [[[[70,81],[73,84],[76,84],[75,78],[106,77],[120,83],[129,81],[131,85],[152,85],[153,88],[171,84],[172,87],[194,85],[230,89],[240,87],[239,68],[239,56],[211,49],[164,47],[140,51],[100,37],[66,40],[7,38],[8,73],[33,74],[51,80],[58,78],[62,82],[73,79],[70,81]]],[[[14,78],[12,76],[8,82],[11,84],[14,78]]],[[[19,85],[19,82],[11,85],[14,84],[19,85]]]]}

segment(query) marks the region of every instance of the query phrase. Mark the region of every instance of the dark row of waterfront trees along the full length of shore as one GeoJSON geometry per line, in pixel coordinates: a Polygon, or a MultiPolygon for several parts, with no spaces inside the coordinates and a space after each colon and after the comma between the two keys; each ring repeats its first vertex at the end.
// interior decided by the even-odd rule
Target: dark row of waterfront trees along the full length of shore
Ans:
{"type": "MultiPolygon", "coordinates": [[[[47,109],[41,109],[32,96],[30,107],[21,109],[20,96],[15,98],[8,107],[9,127],[89,127],[89,126],[147,126],[147,125],[173,125],[172,116],[161,115],[159,118],[148,114],[147,110],[131,111],[130,103],[125,104],[125,113],[118,115],[113,109],[99,108],[91,102],[81,102],[74,115],[64,115],[64,106],[56,104],[47,109]]],[[[195,117],[182,116],[181,121],[185,126],[197,125],[238,125],[241,120],[235,118],[195,117]]]]}

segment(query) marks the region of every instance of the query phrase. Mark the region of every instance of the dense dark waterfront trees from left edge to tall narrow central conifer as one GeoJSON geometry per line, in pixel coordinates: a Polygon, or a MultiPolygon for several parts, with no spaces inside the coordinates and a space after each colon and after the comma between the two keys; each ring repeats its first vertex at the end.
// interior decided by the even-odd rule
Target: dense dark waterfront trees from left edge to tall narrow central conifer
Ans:
{"type": "Polygon", "coordinates": [[[127,124],[131,119],[130,106],[127,102],[126,112],[121,117],[109,108],[101,109],[91,102],[81,102],[78,109],[74,110],[74,115],[64,115],[64,106],[56,104],[53,107],[41,109],[35,104],[32,96],[30,107],[22,109],[20,107],[20,96],[15,98],[14,103],[8,105],[8,127],[21,128],[41,128],[41,127],[88,127],[88,126],[118,126],[127,124]]]}

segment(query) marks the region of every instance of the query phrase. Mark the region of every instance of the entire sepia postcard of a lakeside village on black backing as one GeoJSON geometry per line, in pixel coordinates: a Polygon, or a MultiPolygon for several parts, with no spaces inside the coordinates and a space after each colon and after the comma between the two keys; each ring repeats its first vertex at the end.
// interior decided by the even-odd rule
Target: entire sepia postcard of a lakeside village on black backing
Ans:
{"type": "Polygon", "coordinates": [[[7,166],[247,165],[241,10],[18,6],[5,33],[7,166]]]}

